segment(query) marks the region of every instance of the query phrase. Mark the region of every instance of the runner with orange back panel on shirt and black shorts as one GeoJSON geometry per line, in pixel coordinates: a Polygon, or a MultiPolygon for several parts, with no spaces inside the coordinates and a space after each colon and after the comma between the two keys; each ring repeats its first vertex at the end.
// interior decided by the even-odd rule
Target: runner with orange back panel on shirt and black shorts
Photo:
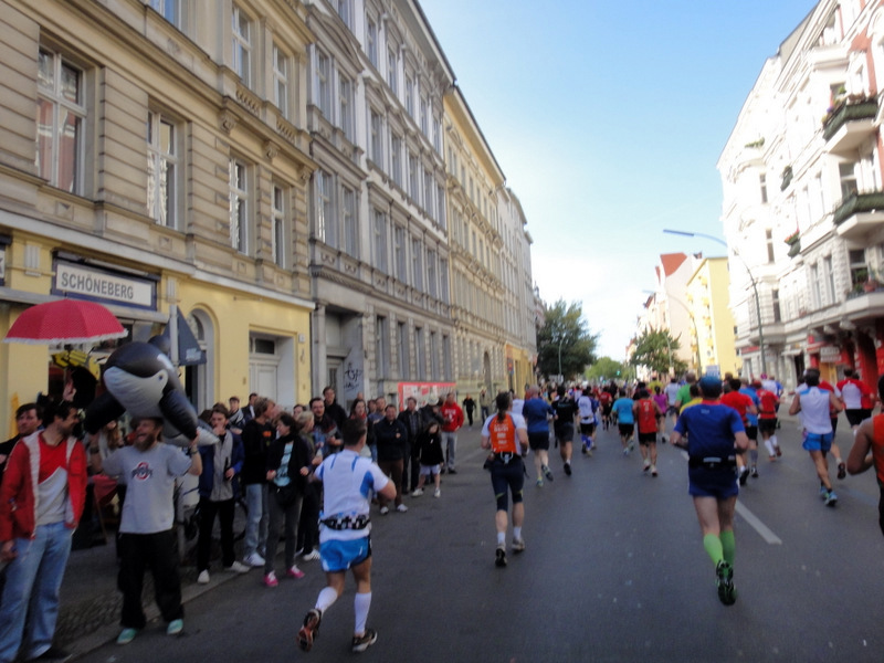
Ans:
{"type": "Polygon", "coordinates": [[[528,431],[522,414],[511,412],[513,401],[509,393],[497,394],[497,413],[492,414],[482,428],[482,449],[494,454],[491,464],[491,485],[497,501],[494,524],[497,529],[497,548],[494,564],[506,566],[507,491],[513,495],[513,551],[525,550],[522,524],[525,520],[525,504],[522,492],[525,482],[525,464],[522,460],[528,444],[528,431]]]}

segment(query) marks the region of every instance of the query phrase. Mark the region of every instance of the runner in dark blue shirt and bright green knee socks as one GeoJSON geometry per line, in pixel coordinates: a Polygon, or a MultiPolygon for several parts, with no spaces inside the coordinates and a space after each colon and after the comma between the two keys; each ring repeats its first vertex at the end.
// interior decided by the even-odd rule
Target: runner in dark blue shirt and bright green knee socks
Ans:
{"type": "Polygon", "coordinates": [[[699,380],[703,401],[682,410],[671,442],[687,450],[688,493],[703,532],[703,547],[715,565],[718,599],[737,600],[734,588],[734,511],[737,506],[736,454],[749,440],[739,413],[718,402],[722,382],[715,376],[699,380]]]}

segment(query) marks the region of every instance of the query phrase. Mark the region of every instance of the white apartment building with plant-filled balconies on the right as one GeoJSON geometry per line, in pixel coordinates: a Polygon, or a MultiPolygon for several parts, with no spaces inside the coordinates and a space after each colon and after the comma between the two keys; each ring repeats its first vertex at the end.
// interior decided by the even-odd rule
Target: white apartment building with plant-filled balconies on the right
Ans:
{"type": "Polygon", "coordinates": [[[882,73],[882,2],[824,0],[744,103],[718,170],[747,375],[884,369],[882,73]]]}

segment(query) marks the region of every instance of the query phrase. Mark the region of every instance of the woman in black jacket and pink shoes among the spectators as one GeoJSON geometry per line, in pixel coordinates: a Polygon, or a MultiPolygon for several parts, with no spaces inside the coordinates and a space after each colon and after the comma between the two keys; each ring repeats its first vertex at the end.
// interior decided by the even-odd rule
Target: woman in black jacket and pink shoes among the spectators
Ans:
{"type": "MultiPolygon", "coordinates": [[[[313,418],[307,413],[307,418],[313,418]]],[[[267,450],[267,554],[264,557],[264,585],[276,587],[280,582],[273,570],[276,546],[280,543],[280,525],[285,522],[285,575],[303,578],[295,565],[295,544],[301,504],[313,457],[307,442],[297,434],[298,422],[291,414],[282,413],[276,420],[277,438],[267,450]]],[[[303,425],[303,424],[302,424],[303,425]]]]}

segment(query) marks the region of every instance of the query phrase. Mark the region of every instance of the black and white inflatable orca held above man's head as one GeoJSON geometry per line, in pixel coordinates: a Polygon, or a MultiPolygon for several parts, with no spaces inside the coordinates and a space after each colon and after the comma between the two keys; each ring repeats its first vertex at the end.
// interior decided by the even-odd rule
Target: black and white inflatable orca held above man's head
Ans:
{"type": "Polygon", "coordinates": [[[168,340],[155,336],[148,343],[127,343],[107,358],[107,391],[86,408],[84,427],[96,433],[124,412],[129,417],[161,417],[166,442],[186,446],[199,435],[199,444],[215,444],[210,431],[199,427],[197,412],[185,396],[178,371],[167,356],[168,340]]]}

